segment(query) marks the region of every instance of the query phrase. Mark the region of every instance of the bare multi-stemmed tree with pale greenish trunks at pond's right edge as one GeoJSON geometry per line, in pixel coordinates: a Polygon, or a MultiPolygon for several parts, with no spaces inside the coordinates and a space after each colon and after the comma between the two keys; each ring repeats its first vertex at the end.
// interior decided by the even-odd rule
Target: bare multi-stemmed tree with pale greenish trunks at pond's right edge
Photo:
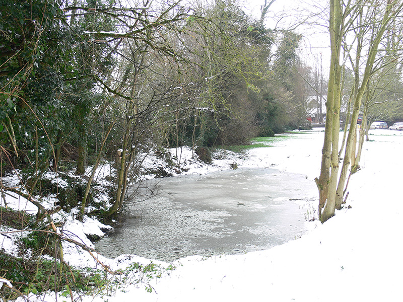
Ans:
{"type": "MultiPolygon", "coordinates": [[[[325,137],[322,149],[322,165],[319,178],[316,179],[319,188],[319,215],[322,222],[334,215],[334,210],[340,208],[343,200],[347,172],[350,166],[357,169],[355,161],[357,119],[363,96],[372,76],[374,62],[378,55],[379,45],[386,30],[397,16],[401,14],[403,4],[389,0],[386,4],[374,5],[370,1],[344,3],[340,0],[330,1],[330,44],[331,64],[327,95],[327,114],[325,137]],[[365,18],[364,18],[365,16],[365,18]],[[354,93],[353,112],[350,131],[346,141],[342,171],[339,177],[339,128],[341,103],[342,65],[347,60],[340,61],[341,46],[353,32],[353,39],[357,40],[356,52],[356,91],[354,93]],[[363,41],[366,37],[367,55],[363,73],[358,75],[363,41]],[[354,152],[354,155],[353,155],[354,152]],[[323,208],[324,207],[324,208],[323,208]],[[323,208],[323,212],[322,212],[323,208]]],[[[352,45],[349,47],[348,54],[352,45]]]]}

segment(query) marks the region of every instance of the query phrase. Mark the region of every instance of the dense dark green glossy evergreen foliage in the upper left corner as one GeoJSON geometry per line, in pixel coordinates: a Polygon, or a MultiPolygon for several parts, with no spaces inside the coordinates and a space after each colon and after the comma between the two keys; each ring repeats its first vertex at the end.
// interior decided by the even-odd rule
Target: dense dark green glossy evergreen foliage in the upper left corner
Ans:
{"type": "MultiPolygon", "coordinates": [[[[52,155],[50,143],[65,123],[60,68],[69,64],[75,41],[61,22],[56,1],[2,0],[0,6],[0,46],[7,50],[0,57],[0,115],[10,116],[22,152],[15,164],[44,171],[52,155]]],[[[12,142],[0,134],[0,143],[10,148],[12,142]]]]}

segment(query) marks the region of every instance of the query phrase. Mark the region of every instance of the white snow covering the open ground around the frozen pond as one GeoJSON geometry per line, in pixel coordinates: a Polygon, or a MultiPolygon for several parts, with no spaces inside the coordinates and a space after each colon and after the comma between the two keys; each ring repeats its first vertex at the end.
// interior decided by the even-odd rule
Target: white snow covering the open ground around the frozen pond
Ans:
{"type": "MultiPolygon", "coordinates": [[[[148,281],[152,292],[144,284],[126,282],[111,294],[87,295],[83,301],[401,301],[403,133],[370,133],[362,169],[350,180],[351,208],[338,211],[323,225],[309,222],[312,231],[302,238],[244,255],[191,256],[172,263],[174,270],[154,261],[169,269],[148,281]]],[[[276,147],[251,149],[242,159],[216,160],[213,166],[193,162],[187,173],[228,169],[236,161],[240,167],[271,167],[309,179],[319,176],[323,132],[290,136],[276,142],[276,147]]],[[[71,230],[81,236],[89,223],[96,225],[90,219],[75,227],[72,222],[71,230]]],[[[95,265],[85,252],[72,248],[64,253],[71,264],[95,265]]],[[[112,270],[133,261],[150,263],[134,255],[99,259],[112,270]]],[[[47,294],[45,300],[54,301],[54,295],[47,294]]]]}

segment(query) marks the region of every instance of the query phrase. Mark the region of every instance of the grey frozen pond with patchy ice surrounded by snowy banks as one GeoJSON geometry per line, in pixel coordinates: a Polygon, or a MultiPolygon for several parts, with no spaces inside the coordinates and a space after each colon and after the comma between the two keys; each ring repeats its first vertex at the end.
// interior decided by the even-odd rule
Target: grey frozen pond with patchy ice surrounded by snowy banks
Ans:
{"type": "Polygon", "coordinates": [[[189,255],[268,249],[305,231],[313,181],[274,169],[238,169],[151,180],[159,194],[130,205],[119,228],[96,244],[107,257],[173,261],[189,255]]]}

